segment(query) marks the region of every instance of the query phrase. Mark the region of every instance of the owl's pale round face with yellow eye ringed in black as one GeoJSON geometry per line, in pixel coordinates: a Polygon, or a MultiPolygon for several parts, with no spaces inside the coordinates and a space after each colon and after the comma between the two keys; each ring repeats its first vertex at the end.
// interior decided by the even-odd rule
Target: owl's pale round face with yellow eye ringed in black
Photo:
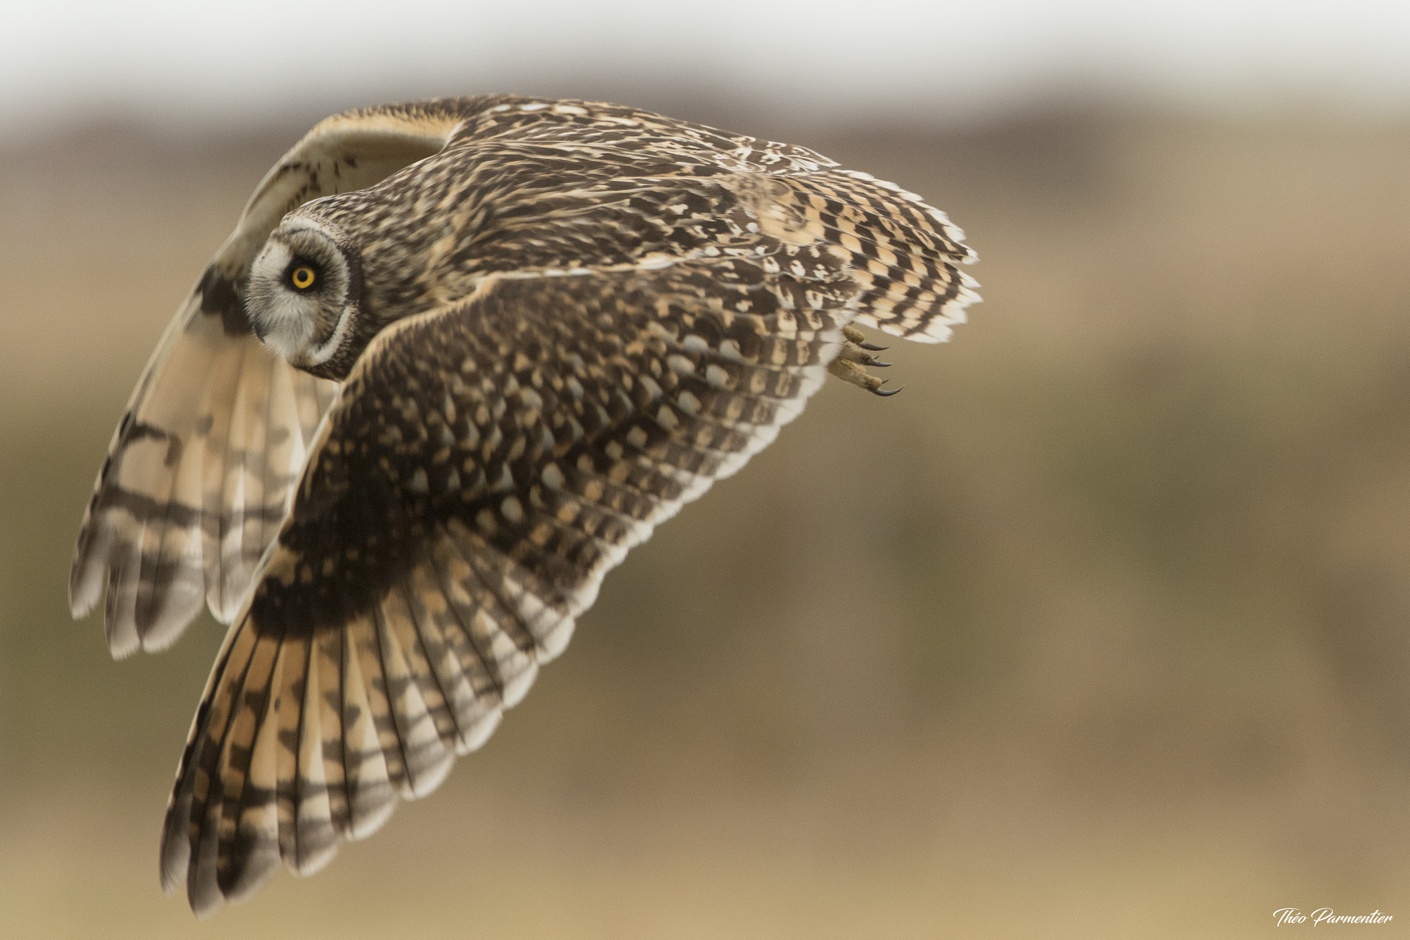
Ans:
{"type": "Polygon", "coordinates": [[[341,379],[369,340],[362,335],[362,265],[341,233],[290,216],[250,268],[245,314],[255,335],[306,372],[341,379]]]}

